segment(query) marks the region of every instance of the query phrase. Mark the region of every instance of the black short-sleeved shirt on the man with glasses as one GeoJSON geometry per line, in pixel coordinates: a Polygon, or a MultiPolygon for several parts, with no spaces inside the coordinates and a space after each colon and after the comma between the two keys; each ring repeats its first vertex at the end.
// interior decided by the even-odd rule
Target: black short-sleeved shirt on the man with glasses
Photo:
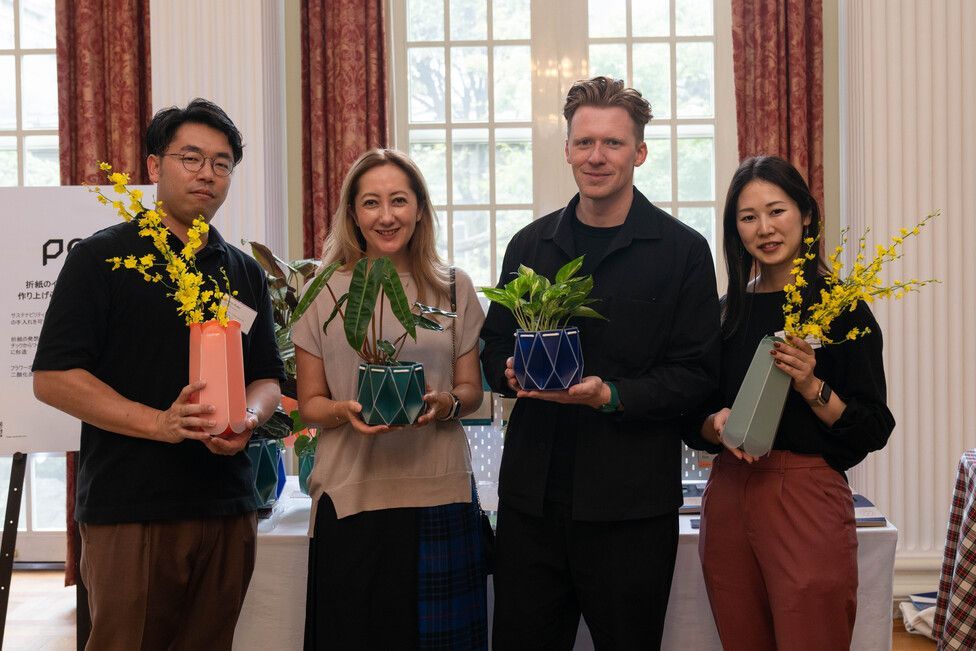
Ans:
{"type": "MultiPolygon", "coordinates": [[[[174,250],[182,243],[172,234],[174,250]]],[[[130,400],[167,409],[189,381],[189,328],[166,296],[133,270],[106,259],[158,251],[135,222],[78,243],[58,276],[44,318],[34,371],[84,369],[130,400]]],[[[261,267],[211,228],[197,267],[227,272],[237,299],[256,309],[243,336],[245,383],[284,378],[271,302],[261,267]]],[[[75,517],[112,524],[233,515],[254,510],[246,454],[221,456],[199,441],[177,444],[123,436],[82,423],[75,517]]]]}

